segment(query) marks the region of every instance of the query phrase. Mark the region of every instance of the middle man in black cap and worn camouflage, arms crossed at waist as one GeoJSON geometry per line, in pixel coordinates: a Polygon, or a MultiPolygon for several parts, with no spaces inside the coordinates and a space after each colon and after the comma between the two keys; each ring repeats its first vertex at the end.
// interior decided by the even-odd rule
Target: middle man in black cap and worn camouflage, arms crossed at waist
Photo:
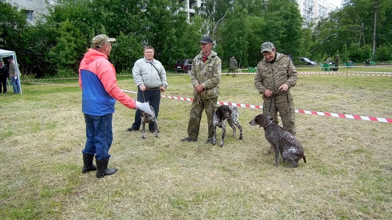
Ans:
{"type": "Polygon", "coordinates": [[[221,60],[216,52],[211,50],[212,39],[204,37],[201,43],[201,52],[193,59],[191,82],[193,89],[193,102],[189,112],[188,137],[181,141],[197,141],[199,137],[200,120],[203,109],[207,115],[208,139],[212,140],[212,115],[215,111],[219,96],[219,82],[221,79],[221,60]]]}

